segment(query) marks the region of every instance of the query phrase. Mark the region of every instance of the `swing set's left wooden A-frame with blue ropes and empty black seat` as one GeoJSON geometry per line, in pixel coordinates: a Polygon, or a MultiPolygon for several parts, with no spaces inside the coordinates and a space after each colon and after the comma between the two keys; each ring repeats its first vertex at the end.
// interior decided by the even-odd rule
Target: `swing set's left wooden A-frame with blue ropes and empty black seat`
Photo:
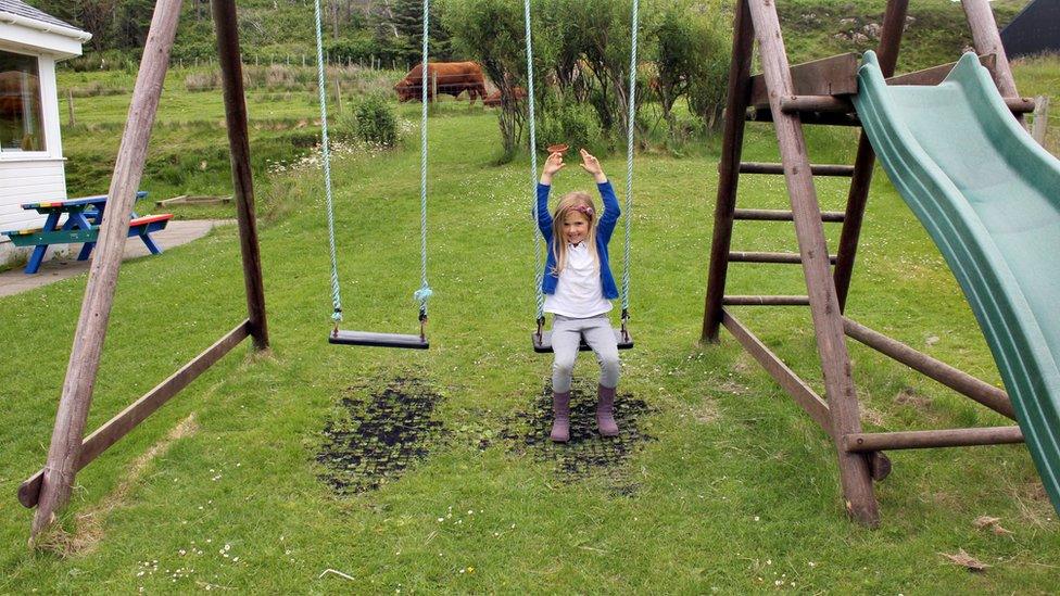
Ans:
{"type": "MultiPolygon", "coordinates": [[[[427,73],[428,43],[428,2],[424,0],[424,73],[427,73]]],[[[117,443],[137,426],[176,396],[199,376],[231,352],[243,340],[250,338],[255,352],[269,346],[265,310],[265,290],[262,278],[261,251],[254,207],[254,188],[250,161],[250,140],[248,134],[247,102],[243,89],[242,58],[239,46],[239,26],[235,0],[214,0],[211,2],[214,27],[217,35],[218,64],[222,73],[222,88],[225,104],[226,130],[228,132],[231,178],[239,225],[240,253],[242,255],[243,279],[247,293],[247,319],[225,333],[211,346],[185,364],[180,369],[163,380],[151,391],[132,402],[99,429],[85,436],[92,393],[99,373],[103,340],[114,303],[118,270],[125,238],[128,236],[128,214],[135,202],[136,190],[143,176],[151,130],[154,126],[163,83],[169,65],[169,53],[176,37],[180,16],[181,0],[156,0],[151,26],[144,41],[140,67],[137,72],[129,105],[129,117],[122,135],[117,158],[114,163],[111,185],[108,191],[110,211],[125,213],[126,217],[105,218],[100,227],[96,258],[88,272],[85,300],[74,334],[74,343],[67,364],[63,391],[48,449],[47,464],[26,479],[18,487],[18,502],[26,508],[35,508],[30,528],[31,541],[50,528],[59,511],[65,507],[73,491],[77,473],[91,464],[103,452],[117,443]]],[[[634,1],[635,39],[635,1],[634,1]]],[[[338,259],[335,240],[333,198],[331,189],[330,152],[328,147],[327,105],[324,73],[324,52],[321,40],[321,18],[319,0],[314,3],[316,22],[317,83],[321,115],[321,150],[324,152],[325,193],[328,207],[328,237],[331,253],[331,288],[333,301],[333,330],[328,341],[335,344],[374,345],[383,347],[429,347],[426,338],[427,301],[431,289],[427,280],[427,101],[422,98],[421,142],[420,142],[420,288],[414,294],[419,303],[420,332],[418,335],[394,333],[373,333],[366,331],[343,331],[338,328],[342,320],[342,304],[339,291],[338,259]]],[[[532,64],[529,37],[529,0],[526,0],[528,64],[532,64]]],[[[635,64],[634,55],[631,65],[635,64]]],[[[632,68],[631,68],[632,71],[632,68]]],[[[531,69],[532,76],[532,69],[531,69]]],[[[425,81],[426,83],[426,81],[425,81]]],[[[424,85],[426,92],[427,86],[424,85]]],[[[630,96],[633,93],[633,73],[631,72],[630,96]]],[[[532,102],[532,94],[531,94],[532,102]]],[[[632,103],[632,100],[631,100],[632,103]]],[[[532,109],[531,109],[532,110],[532,109]]],[[[531,111],[531,117],[533,117],[531,111]]],[[[632,122],[632,117],[630,118],[632,122]]],[[[623,274],[622,319],[619,332],[629,347],[626,331],[629,306],[629,208],[632,204],[632,130],[628,143],[627,179],[627,243],[623,274]]],[[[531,155],[533,138],[531,137],[531,155]]],[[[537,167],[532,160],[533,168],[537,167]]],[[[534,173],[535,174],[535,173],[534,173]]],[[[535,234],[537,238],[537,234],[535,234]]],[[[540,255],[539,255],[540,259],[540,255]]],[[[539,261],[540,263],[540,261],[539,261]]],[[[541,286],[541,267],[538,267],[538,288],[541,286]]],[[[539,325],[541,321],[542,299],[539,293],[539,325]]],[[[539,327],[540,331],[540,327],[539,327]]],[[[544,348],[546,335],[541,334],[534,345],[544,348]]]]}

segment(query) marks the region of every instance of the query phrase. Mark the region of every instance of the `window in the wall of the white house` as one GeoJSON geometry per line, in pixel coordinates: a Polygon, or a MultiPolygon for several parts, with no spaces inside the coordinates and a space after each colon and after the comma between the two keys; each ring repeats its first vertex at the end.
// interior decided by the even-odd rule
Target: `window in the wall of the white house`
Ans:
{"type": "Polygon", "coordinates": [[[36,56],[0,51],[0,152],[45,150],[36,56]]]}

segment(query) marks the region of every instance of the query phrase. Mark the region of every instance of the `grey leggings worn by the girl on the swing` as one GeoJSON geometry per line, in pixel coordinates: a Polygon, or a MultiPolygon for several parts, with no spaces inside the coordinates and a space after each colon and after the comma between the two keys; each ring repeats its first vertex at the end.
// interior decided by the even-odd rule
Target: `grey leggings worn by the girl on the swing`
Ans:
{"type": "Polygon", "coordinates": [[[600,362],[600,384],[606,388],[618,385],[618,342],[607,315],[585,319],[556,315],[552,321],[552,351],[556,355],[552,364],[552,390],[556,393],[570,391],[570,378],[582,335],[600,362]]]}

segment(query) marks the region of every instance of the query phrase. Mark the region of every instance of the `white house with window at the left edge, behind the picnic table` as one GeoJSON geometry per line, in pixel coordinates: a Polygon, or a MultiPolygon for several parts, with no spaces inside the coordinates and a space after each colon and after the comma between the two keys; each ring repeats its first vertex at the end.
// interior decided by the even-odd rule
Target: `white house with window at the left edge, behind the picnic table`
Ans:
{"type": "MultiPolygon", "coordinates": [[[[66,198],[55,63],[91,38],[20,0],[0,0],[0,231],[40,226],[21,207],[66,198]]],[[[0,263],[14,248],[0,236],[0,263]]]]}

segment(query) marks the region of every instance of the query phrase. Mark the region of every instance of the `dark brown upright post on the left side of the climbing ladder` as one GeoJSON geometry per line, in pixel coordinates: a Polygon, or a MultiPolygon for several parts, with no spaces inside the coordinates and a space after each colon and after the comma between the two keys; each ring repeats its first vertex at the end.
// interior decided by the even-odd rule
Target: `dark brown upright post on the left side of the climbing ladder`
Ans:
{"type": "Polygon", "coordinates": [[[736,7],[732,38],[732,63],[729,69],[729,100],[725,104],[725,130],[718,163],[718,202],[714,213],[714,240],[710,245],[710,272],[703,309],[701,341],[718,341],[721,326],[721,299],[725,293],[729,249],[732,241],[733,212],[736,208],[736,185],[740,180],[740,155],[744,142],[744,113],[750,96],[750,62],[755,31],[747,2],[736,7]]]}

